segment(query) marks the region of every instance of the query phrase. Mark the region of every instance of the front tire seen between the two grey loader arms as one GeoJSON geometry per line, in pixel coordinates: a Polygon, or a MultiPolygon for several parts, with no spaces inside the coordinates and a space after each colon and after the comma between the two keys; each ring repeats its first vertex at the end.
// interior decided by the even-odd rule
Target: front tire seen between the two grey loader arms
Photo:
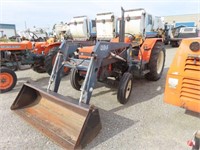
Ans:
{"type": "Polygon", "coordinates": [[[70,83],[72,87],[80,91],[83,81],[84,77],[80,76],[79,71],[77,69],[72,69],[70,76],[70,83]]]}

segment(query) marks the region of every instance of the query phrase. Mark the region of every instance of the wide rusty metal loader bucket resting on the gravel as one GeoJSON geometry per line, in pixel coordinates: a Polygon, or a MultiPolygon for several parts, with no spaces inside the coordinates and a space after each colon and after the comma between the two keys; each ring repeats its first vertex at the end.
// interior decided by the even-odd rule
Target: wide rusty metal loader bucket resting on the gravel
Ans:
{"type": "Polygon", "coordinates": [[[98,109],[25,83],[11,106],[65,149],[81,149],[100,131],[98,109]]]}

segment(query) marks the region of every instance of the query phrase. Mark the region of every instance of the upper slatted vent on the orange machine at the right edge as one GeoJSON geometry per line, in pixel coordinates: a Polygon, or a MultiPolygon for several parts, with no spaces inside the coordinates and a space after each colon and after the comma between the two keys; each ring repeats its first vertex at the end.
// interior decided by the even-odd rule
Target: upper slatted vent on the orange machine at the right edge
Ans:
{"type": "Polygon", "coordinates": [[[195,59],[186,59],[185,72],[199,72],[200,74],[200,61],[195,59]]]}

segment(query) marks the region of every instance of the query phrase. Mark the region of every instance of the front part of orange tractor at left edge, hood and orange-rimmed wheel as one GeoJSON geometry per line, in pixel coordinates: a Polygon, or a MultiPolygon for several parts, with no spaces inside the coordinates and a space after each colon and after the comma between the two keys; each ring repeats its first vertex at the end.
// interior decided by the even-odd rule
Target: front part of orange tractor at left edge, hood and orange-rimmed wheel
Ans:
{"type": "Polygon", "coordinates": [[[0,42],[0,93],[12,90],[17,82],[14,71],[30,68],[37,72],[45,72],[43,55],[35,55],[30,41],[0,42]]]}

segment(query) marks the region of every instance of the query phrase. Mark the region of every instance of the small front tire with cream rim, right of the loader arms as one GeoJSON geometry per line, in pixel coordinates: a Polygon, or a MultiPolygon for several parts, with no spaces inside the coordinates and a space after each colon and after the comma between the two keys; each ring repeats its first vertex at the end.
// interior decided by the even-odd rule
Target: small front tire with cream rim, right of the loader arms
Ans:
{"type": "Polygon", "coordinates": [[[121,104],[126,104],[129,100],[133,87],[133,76],[131,73],[126,72],[123,74],[117,91],[117,100],[121,104]]]}

